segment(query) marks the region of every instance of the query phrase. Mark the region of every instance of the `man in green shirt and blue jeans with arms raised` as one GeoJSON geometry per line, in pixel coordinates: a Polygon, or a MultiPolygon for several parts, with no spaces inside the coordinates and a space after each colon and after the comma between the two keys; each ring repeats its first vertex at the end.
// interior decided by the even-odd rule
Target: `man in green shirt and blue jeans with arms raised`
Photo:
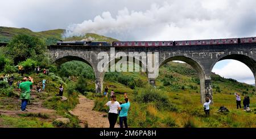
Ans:
{"type": "Polygon", "coordinates": [[[30,99],[30,85],[34,83],[32,77],[28,77],[30,81],[27,81],[27,77],[23,78],[23,82],[19,84],[20,100],[22,100],[21,111],[27,111],[27,102],[30,99]]]}

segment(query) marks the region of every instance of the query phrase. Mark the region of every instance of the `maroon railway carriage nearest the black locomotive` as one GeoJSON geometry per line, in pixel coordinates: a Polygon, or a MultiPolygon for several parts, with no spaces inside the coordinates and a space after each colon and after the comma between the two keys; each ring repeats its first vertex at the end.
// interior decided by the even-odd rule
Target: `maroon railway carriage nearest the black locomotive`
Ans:
{"type": "Polygon", "coordinates": [[[158,46],[173,46],[173,41],[119,41],[113,42],[113,46],[138,46],[138,47],[158,47],[158,46]]]}

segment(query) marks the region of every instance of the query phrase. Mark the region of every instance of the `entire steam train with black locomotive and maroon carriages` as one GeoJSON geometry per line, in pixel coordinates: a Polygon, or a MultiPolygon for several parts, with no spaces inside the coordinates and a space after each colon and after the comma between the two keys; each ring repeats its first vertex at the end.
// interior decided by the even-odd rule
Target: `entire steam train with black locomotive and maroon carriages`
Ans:
{"type": "Polygon", "coordinates": [[[256,43],[256,37],[225,38],[214,40],[189,40],[189,41],[58,41],[57,45],[82,45],[82,46],[114,46],[114,47],[159,47],[159,46],[189,46],[189,45],[222,45],[222,44],[247,44],[256,43]]]}

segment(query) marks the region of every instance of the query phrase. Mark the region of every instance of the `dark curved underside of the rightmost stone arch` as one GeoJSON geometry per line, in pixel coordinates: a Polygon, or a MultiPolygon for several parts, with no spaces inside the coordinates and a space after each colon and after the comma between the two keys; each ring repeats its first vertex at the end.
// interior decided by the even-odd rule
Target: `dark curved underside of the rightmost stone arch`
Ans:
{"type": "MultiPolygon", "coordinates": [[[[212,63],[212,65],[210,66],[210,71],[212,71],[214,65],[217,62],[219,62],[221,60],[226,60],[226,59],[238,60],[239,62],[242,62],[247,67],[249,67],[251,69],[251,72],[253,72],[255,83],[256,83],[256,60],[254,60],[253,58],[251,58],[247,55],[243,55],[243,54],[223,55],[223,56],[219,57],[216,60],[216,62],[212,63]]],[[[255,86],[255,88],[256,88],[256,86],[255,86]]]]}

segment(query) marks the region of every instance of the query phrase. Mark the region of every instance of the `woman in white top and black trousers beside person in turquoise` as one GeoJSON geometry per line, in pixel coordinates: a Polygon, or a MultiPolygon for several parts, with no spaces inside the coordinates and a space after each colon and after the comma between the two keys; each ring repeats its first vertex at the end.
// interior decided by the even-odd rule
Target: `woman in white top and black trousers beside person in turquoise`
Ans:
{"type": "Polygon", "coordinates": [[[118,109],[120,110],[120,104],[117,102],[117,98],[115,95],[112,95],[111,101],[106,103],[104,106],[109,106],[109,128],[114,128],[115,123],[117,123],[117,117],[118,117],[118,109]]]}

